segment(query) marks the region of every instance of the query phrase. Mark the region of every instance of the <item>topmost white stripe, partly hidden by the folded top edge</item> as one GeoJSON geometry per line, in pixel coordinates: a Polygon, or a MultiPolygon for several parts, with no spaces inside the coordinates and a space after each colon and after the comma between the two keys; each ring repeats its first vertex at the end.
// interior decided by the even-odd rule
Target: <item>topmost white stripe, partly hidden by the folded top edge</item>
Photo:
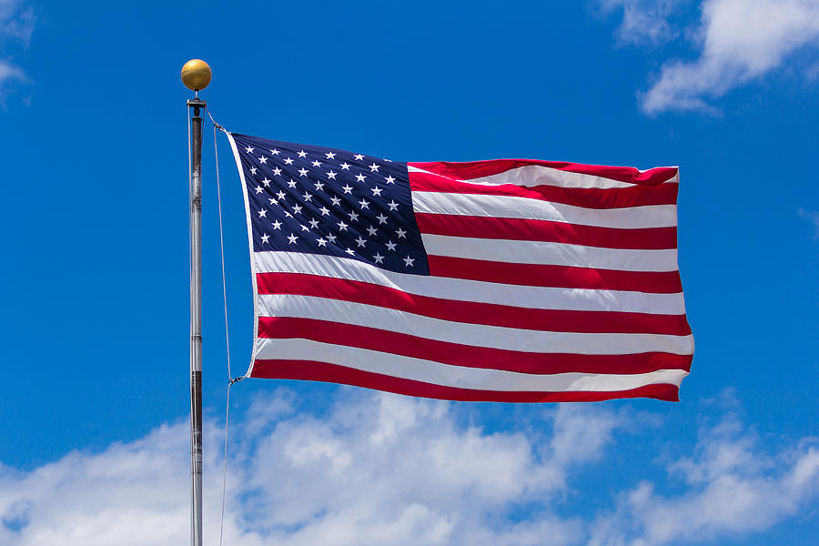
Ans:
{"type": "MultiPolygon", "coordinates": [[[[422,168],[408,166],[411,172],[430,173],[422,168]]],[[[436,173],[430,173],[436,174],[436,173]]],[[[443,176],[443,175],[438,175],[443,176]]],[[[557,186],[557,187],[581,187],[581,188],[601,188],[611,189],[618,187],[639,187],[640,184],[630,184],[628,182],[620,182],[619,180],[612,180],[611,178],[595,177],[594,175],[585,175],[581,173],[572,173],[563,171],[557,168],[543,167],[541,165],[527,165],[525,167],[511,168],[497,175],[490,175],[489,177],[478,177],[460,180],[461,182],[468,182],[470,184],[481,184],[485,186],[499,186],[501,184],[514,184],[515,186],[533,187],[533,186],[557,186]]],[[[675,175],[672,179],[667,180],[663,184],[677,184],[679,175],[675,175]]]]}

